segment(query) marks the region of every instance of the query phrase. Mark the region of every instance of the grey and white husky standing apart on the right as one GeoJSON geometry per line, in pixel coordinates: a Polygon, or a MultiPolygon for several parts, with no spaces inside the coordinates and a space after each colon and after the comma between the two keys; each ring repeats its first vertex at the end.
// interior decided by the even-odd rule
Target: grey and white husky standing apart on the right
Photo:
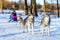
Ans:
{"type": "Polygon", "coordinates": [[[40,27],[40,33],[42,33],[42,35],[44,34],[44,28],[47,28],[47,33],[49,36],[49,25],[50,25],[50,17],[47,14],[42,14],[43,18],[41,20],[41,27],[40,27]]]}

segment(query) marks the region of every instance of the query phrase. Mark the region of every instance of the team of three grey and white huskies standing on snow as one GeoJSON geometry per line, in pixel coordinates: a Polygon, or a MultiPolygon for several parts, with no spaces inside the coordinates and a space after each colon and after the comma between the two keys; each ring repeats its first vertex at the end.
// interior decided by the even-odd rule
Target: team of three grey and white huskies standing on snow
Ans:
{"type": "MultiPolygon", "coordinates": [[[[44,35],[44,29],[47,28],[47,34],[49,36],[50,17],[46,13],[42,13],[41,15],[43,18],[40,24],[40,34],[44,35]]],[[[34,16],[32,14],[28,14],[27,17],[23,20],[22,15],[19,14],[17,18],[18,18],[18,24],[23,29],[23,32],[25,31],[24,28],[27,27],[28,34],[30,34],[32,30],[32,34],[34,35],[34,16]]]]}

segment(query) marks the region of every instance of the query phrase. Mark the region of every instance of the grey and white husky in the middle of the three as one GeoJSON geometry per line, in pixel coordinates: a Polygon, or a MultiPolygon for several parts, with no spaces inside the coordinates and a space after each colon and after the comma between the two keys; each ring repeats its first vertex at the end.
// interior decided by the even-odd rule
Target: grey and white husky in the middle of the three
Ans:
{"type": "Polygon", "coordinates": [[[30,27],[32,28],[32,34],[34,34],[34,17],[32,14],[28,14],[28,16],[24,19],[24,25],[28,28],[28,33],[30,34],[30,27]]]}

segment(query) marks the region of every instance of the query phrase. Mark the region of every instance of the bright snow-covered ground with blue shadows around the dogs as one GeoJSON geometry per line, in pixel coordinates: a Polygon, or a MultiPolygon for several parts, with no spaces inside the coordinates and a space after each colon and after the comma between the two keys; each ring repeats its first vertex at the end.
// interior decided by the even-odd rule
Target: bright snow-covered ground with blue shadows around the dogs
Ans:
{"type": "Polygon", "coordinates": [[[39,34],[42,18],[40,15],[35,17],[34,35],[28,35],[27,31],[23,33],[17,22],[8,22],[9,16],[10,14],[0,14],[0,40],[60,40],[60,18],[58,17],[50,17],[50,36],[47,36],[46,33],[41,36],[39,34]]]}

